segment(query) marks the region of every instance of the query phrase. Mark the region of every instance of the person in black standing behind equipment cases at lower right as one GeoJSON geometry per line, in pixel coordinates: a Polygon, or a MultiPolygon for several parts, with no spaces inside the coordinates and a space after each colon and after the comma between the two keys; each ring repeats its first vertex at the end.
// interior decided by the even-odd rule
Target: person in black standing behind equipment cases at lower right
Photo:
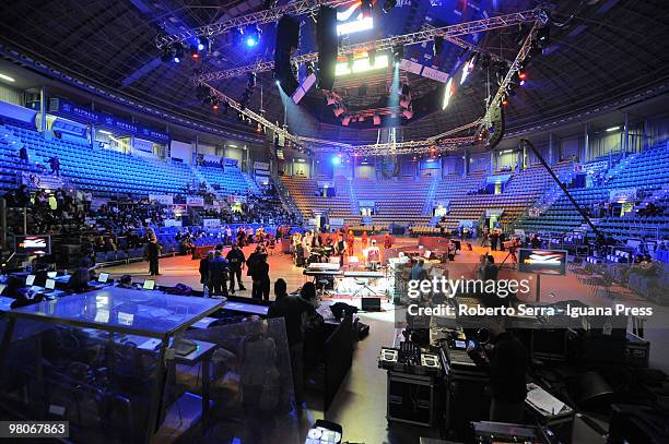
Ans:
{"type": "Polygon", "coordinates": [[[504,328],[504,319],[493,322],[485,349],[468,347],[471,359],[490,374],[490,420],[523,423],[528,356],[525,346],[504,328]]]}

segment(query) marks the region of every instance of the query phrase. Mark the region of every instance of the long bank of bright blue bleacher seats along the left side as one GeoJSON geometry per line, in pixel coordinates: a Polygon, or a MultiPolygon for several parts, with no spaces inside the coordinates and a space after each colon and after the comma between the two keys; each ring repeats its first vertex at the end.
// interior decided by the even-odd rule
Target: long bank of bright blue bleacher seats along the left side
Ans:
{"type": "MultiPolygon", "coordinates": [[[[0,188],[9,190],[16,184],[16,172],[42,172],[38,165],[47,164],[51,156],[60,160],[61,175],[79,189],[99,196],[117,193],[177,194],[200,178],[226,193],[245,194],[258,187],[238,168],[198,167],[197,172],[187,164],[154,156],[136,156],[111,149],[91,147],[85,142],[46,140],[35,129],[14,121],[0,120],[0,188]],[[28,149],[30,163],[17,161],[19,149],[28,149]]],[[[47,168],[48,170],[48,168],[47,168]]]]}

